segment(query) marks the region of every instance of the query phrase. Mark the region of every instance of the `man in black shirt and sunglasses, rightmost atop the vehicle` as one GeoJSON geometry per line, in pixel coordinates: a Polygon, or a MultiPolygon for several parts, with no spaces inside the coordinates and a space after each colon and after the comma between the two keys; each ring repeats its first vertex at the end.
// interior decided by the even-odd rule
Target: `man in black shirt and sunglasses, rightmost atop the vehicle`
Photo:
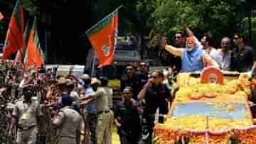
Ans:
{"type": "Polygon", "coordinates": [[[231,52],[230,70],[232,71],[248,72],[255,62],[255,52],[250,46],[245,45],[244,40],[242,35],[234,35],[233,42],[236,48],[231,52]]]}

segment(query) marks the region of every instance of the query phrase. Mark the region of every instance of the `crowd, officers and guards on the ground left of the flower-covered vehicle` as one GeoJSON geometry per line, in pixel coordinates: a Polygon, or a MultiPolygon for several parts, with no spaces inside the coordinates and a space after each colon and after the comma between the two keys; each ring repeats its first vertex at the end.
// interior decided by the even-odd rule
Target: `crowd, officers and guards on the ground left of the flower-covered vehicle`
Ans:
{"type": "Polygon", "coordinates": [[[47,133],[41,129],[45,111],[57,130],[57,143],[112,143],[113,124],[121,143],[151,143],[156,109],[167,113],[171,101],[170,86],[163,83],[169,72],[149,74],[146,62],[126,65],[127,75],[119,89],[122,101],[117,104],[113,104],[107,77],[75,77],[72,70],[63,76],[56,75],[56,68],[25,70],[19,65],[1,62],[1,96],[15,95],[6,102],[11,104],[6,135],[15,136],[18,144],[36,143],[40,131],[47,133]],[[15,92],[6,93],[9,86],[15,92]]]}

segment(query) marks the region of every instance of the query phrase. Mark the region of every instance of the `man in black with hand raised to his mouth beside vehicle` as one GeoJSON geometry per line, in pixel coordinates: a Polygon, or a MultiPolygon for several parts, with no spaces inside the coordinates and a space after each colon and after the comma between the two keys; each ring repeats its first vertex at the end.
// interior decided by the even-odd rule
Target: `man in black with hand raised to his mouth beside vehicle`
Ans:
{"type": "Polygon", "coordinates": [[[146,118],[146,126],[149,131],[149,137],[147,142],[151,144],[152,133],[154,130],[154,119],[156,109],[159,108],[159,113],[166,114],[168,113],[168,100],[171,96],[171,92],[166,87],[165,84],[161,84],[162,73],[158,70],[155,70],[151,77],[149,78],[148,83],[144,86],[141,92],[139,92],[138,99],[142,101],[145,99],[146,104],[144,108],[144,116],[146,118]]]}

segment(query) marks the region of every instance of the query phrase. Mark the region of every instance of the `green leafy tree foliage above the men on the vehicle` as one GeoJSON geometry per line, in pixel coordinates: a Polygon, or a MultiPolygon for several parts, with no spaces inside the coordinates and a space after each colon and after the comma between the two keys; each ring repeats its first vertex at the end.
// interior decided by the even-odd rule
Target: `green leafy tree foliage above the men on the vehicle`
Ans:
{"type": "Polygon", "coordinates": [[[239,0],[162,1],[154,12],[154,28],[171,38],[176,31],[182,31],[181,23],[185,14],[188,27],[193,29],[198,38],[203,33],[211,33],[215,44],[219,45],[220,39],[225,35],[245,33],[247,25],[243,21],[246,21],[246,11],[247,7],[239,0]]]}

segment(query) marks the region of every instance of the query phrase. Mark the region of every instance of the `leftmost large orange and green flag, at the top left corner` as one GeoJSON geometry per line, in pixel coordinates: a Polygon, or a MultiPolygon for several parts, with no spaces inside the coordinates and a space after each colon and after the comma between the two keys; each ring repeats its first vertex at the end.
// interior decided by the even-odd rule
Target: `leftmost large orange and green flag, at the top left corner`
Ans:
{"type": "Polygon", "coordinates": [[[6,33],[4,43],[3,58],[7,59],[14,55],[19,49],[23,49],[25,45],[23,38],[23,8],[20,2],[16,1],[16,6],[11,16],[9,28],[6,33]]]}

